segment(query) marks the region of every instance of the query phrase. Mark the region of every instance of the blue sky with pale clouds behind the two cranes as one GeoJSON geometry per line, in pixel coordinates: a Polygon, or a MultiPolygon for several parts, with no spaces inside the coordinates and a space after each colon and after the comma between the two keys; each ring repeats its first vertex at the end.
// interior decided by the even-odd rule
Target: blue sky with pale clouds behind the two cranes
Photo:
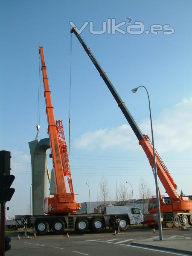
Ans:
{"type": "MultiPolygon", "coordinates": [[[[115,18],[116,23],[126,22],[122,26],[126,30],[125,18],[131,17],[131,24],[143,22],[145,29],[153,24],[175,29],[172,35],[162,31],[157,35],[93,35],[87,26],[81,36],[143,133],[151,137],[147,95],[143,88],[131,93],[139,85],[147,87],[157,151],[178,188],[192,195],[191,1],[3,0],[0,5],[0,149],[12,153],[12,186],[16,189],[7,215],[24,214],[29,204],[28,142],[36,135],[39,45],[44,46],[55,119],[63,119],[68,141],[70,21],[79,28],[85,21],[93,21],[94,29],[101,30],[103,21],[115,18]]],[[[47,137],[43,93],[40,118],[38,139],[43,139],[47,137]]],[[[120,186],[125,180],[131,182],[137,198],[141,177],[155,194],[151,168],[137,138],[74,35],[71,120],[70,165],[74,191],[79,194],[76,201],[89,200],[86,183],[91,200],[97,201],[102,175],[112,198],[116,181],[120,186]]]]}

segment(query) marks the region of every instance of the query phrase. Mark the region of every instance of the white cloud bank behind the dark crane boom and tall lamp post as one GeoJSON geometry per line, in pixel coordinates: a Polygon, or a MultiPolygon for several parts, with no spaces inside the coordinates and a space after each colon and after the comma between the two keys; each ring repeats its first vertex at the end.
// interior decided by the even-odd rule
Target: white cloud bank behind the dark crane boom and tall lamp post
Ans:
{"type": "MultiPolygon", "coordinates": [[[[150,120],[139,124],[144,133],[151,131],[150,120]]],[[[184,151],[192,148],[192,98],[183,99],[167,108],[153,120],[155,147],[161,152],[184,151]]],[[[150,133],[151,134],[151,133],[150,133]]],[[[150,135],[151,136],[151,135],[150,135]]],[[[121,146],[137,150],[137,138],[127,124],[87,132],[74,142],[76,148],[115,148],[121,146]]]]}

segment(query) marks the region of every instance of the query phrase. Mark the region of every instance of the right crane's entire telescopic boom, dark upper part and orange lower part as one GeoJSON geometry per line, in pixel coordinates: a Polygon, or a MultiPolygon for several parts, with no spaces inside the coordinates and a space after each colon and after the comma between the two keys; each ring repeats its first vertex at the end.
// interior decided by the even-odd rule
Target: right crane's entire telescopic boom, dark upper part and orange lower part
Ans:
{"type": "MultiPolygon", "coordinates": [[[[148,137],[148,135],[144,135],[137,123],[135,122],[134,118],[132,117],[131,113],[128,111],[128,108],[125,105],[125,102],[122,101],[119,94],[113,87],[113,84],[111,83],[110,79],[102,69],[102,67],[99,65],[98,61],[94,57],[93,53],[90,51],[89,47],[85,44],[83,38],[81,35],[78,34],[76,31],[76,27],[73,27],[70,30],[71,33],[74,33],[81,43],[82,47],[84,48],[85,52],[93,62],[94,66],[99,72],[99,75],[104,80],[105,84],[107,85],[108,89],[110,90],[111,94],[113,95],[114,99],[117,102],[117,105],[121,109],[122,113],[124,114],[125,118],[127,119],[129,125],[131,126],[132,130],[134,131],[134,134],[136,135],[137,139],[139,140],[139,144],[142,146],[148,161],[150,165],[154,168],[154,161],[153,161],[153,147],[152,143],[148,137]]],[[[180,212],[180,211],[188,211],[192,212],[192,202],[189,200],[188,197],[182,197],[178,195],[176,189],[177,185],[175,184],[175,181],[173,180],[172,176],[170,175],[168,169],[166,168],[165,164],[161,160],[159,154],[155,150],[155,157],[156,157],[156,164],[157,164],[157,175],[163,184],[166,193],[169,195],[169,197],[172,199],[172,205],[169,205],[170,209],[167,209],[167,205],[161,205],[161,211],[169,211],[169,212],[180,212]],[[163,207],[167,207],[166,209],[163,209],[163,207]]],[[[155,211],[155,209],[154,209],[155,211]]],[[[156,208],[157,211],[157,208],[156,208]]]]}

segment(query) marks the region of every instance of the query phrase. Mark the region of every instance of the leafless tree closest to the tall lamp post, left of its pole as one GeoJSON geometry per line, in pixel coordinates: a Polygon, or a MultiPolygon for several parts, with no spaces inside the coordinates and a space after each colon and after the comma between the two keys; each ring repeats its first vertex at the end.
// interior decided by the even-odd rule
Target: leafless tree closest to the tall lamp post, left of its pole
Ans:
{"type": "Polygon", "coordinates": [[[148,184],[145,182],[145,180],[143,180],[143,177],[141,177],[140,179],[139,196],[142,199],[143,214],[144,214],[144,212],[148,211],[148,202],[149,202],[149,198],[152,197],[152,193],[148,184]]]}

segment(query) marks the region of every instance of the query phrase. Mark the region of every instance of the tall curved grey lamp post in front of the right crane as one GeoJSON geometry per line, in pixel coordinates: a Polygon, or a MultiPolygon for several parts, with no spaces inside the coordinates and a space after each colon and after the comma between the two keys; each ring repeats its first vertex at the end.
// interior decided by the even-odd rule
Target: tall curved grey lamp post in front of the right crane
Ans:
{"type": "Polygon", "coordinates": [[[156,188],[156,197],[157,197],[157,215],[158,215],[159,239],[163,240],[162,227],[161,227],[160,200],[159,200],[159,191],[158,191],[158,183],[157,183],[157,165],[156,165],[155,148],[154,148],[153,125],[152,125],[152,118],[151,118],[151,105],[150,105],[148,90],[145,86],[140,85],[137,88],[132,89],[131,90],[132,93],[136,93],[139,87],[143,87],[146,90],[147,96],[148,96],[148,105],[149,105],[149,113],[150,113],[150,121],[151,121],[151,136],[152,136],[152,145],[153,145],[154,179],[155,179],[155,188],[156,188]]]}

